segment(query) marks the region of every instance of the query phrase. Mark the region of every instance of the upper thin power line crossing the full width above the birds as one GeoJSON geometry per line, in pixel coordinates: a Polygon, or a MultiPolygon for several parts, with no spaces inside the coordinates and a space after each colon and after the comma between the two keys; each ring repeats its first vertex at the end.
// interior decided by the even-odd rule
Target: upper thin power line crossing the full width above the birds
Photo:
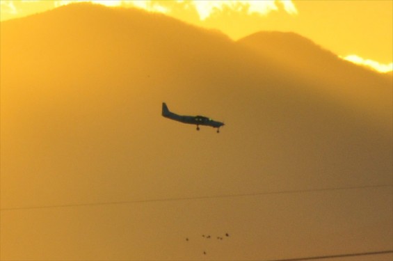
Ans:
{"type": "Polygon", "coordinates": [[[133,204],[133,203],[137,204],[137,203],[160,203],[160,202],[184,201],[184,200],[209,200],[209,199],[218,199],[218,198],[240,198],[240,197],[268,196],[268,195],[291,194],[291,193],[342,191],[342,190],[350,190],[350,189],[372,189],[372,188],[382,188],[382,187],[393,187],[393,185],[385,184],[385,185],[368,185],[368,186],[341,187],[341,188],[328,188],[328,189],[302,189],[302,190],[270,191],[270,192],[257,192],[257,193],[223,194],[223,195],[215,195],[215,196],[194,196],[194,197],[183,197],[183,198],[156,198],[156,199],[147,199],[147,200],[125,200],[125,201],[113,201],[113,202],[104,202],[104,203],[81,203],[81,204],[32,206],[32,207],[5,207],[0,209],[0,211],[6,212],[6,211],[13,211],[13,210],[27,210],[27,209],[94,207],[94,206],[102,206],[102,205],[124,205],[124,204],[133,204]]]}

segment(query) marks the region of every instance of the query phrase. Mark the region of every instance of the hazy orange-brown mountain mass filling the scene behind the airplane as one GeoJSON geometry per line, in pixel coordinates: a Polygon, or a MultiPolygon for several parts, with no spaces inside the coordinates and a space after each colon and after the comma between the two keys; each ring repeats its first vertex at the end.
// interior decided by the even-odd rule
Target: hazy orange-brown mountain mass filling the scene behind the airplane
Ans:
{"type": "Polygon", "coordinates": [[[236,235],[221,260],[391,246],[391,193],[339,190],[392,184],[383,74],[294,33],[90,3],[1,22],[0,52],[1,208],[53,206],[2,212],[0,258],[195,259],[177,233],[202,230],[236,235]]]}

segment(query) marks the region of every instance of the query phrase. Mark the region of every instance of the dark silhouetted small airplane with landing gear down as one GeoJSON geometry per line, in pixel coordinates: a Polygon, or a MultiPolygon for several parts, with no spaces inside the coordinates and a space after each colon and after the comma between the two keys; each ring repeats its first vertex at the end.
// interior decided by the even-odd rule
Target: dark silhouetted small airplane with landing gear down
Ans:
{"type": "Polygon", "coordinates": [[[197,130],[199,130],[199,125],[211,126],[217,128],[217,133],[220,132],[220,127],[225,125],[224,122],[219,122],[216,120],[211,120],[204,116],[182,116],[169,111],[166,103],[162,103],[162,116],[165,118],[170,118],[171,120],[177,120],[179,122],[195,124],[197,125],[197,130]]]}

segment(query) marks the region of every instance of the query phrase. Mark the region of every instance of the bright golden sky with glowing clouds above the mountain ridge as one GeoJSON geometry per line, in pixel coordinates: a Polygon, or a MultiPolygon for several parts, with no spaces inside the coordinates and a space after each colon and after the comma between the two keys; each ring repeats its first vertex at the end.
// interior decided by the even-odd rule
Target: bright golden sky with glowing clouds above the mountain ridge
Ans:
{"type": "MultiPolygon", "coordinates": [[[[40,13],[74,0],[1,0],[1,21],[40,13]]],[[[93,1],[91,1],[93,2],[93,1]]],[[[380,72],[392,70],[393,1],[125,1],[106,6],[138,7],[191,24],[218,29],[234,40],[257,31],[294,31],[342,58],[380,72]]]]}

